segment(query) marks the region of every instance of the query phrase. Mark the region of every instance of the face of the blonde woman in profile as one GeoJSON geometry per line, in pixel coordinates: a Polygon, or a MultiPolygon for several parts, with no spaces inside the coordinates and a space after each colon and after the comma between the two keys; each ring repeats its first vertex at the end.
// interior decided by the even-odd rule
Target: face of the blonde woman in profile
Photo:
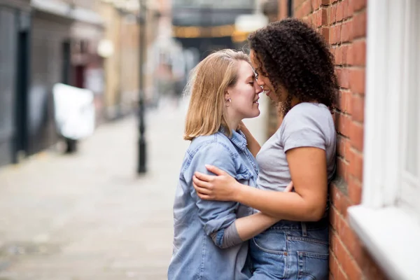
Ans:
{"type": "Polygon", "coordinates": [[[238,79],[233,87],[228,88],[227,99],[230,116],[242,120],[244,118],[255,118],[260,115],[258,109],[258,94],[262,92],[261,87],[256,83],[255,73],[252,66],[243,60],[238,62],[238,79]]]}

